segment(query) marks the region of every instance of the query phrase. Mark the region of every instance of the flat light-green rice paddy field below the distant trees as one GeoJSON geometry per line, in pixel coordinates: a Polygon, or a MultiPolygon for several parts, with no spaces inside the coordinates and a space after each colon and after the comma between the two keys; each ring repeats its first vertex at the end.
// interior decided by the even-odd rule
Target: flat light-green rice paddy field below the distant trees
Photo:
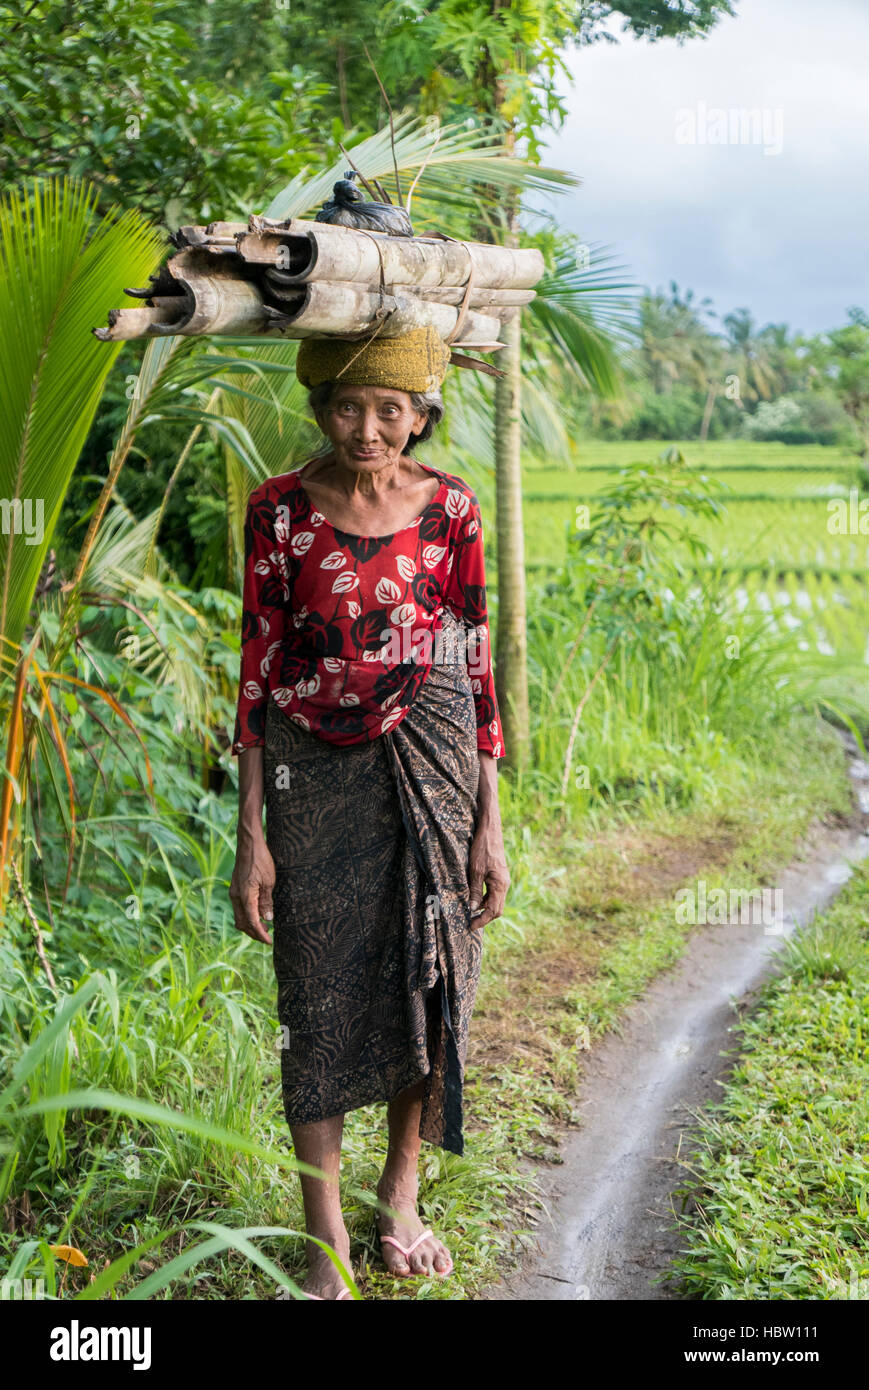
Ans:
{"type": "Polygon", "coordinates": [[[528,461],[524,520],[531,585],[563,564],[578,506],[594,513],[595,496],[612,488],[620,468],[673,448],[698,474],[722,485],[723,518],[699,518],[695,531],[713,566],[730,577],[737,606],[799,630],[804,651],[869,660],[869,500],[862,505],[861,535],[858,461],[838,449],[588,441],[577,445],[573,467],[528,461]]]}

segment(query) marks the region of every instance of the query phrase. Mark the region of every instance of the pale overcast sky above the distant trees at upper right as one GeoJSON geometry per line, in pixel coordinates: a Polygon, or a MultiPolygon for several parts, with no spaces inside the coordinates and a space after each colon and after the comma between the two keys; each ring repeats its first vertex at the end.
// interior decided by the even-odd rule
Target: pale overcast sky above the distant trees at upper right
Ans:
{"type": "Polygon", "coordinates": [[[544,158],[583,183],[558,215],[641,285],[818,332],[869,310],[869,0],[736,8],[681,47],[570,54],[570,115],[544,158]],[[756,129],[740,110],[762,113],[756,129]]]}

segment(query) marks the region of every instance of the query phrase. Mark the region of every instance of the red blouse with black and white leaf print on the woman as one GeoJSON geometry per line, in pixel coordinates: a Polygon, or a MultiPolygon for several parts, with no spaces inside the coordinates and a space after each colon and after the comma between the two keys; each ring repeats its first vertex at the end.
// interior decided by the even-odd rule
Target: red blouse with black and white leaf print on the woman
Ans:
{"type": "Polygon", "coordinates": [[[441,486],[393,535],[339,531],[310,502],[303,470],[250,493],[232,753],[264,745],[270,694],[289,719],[332,744],[393,728],[449,651],[437,635],[446,607],[467,637],[477,746],[503,758],[480,503],[462,478],[420,467],[441,486]]]}

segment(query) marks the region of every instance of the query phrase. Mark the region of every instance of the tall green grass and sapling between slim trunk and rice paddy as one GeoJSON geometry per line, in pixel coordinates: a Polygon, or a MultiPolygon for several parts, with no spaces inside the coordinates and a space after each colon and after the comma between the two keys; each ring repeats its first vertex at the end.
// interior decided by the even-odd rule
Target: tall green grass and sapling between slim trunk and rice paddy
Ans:
{"type": "Polygon", "coordinates": [[[858,733],[869,726],[862,591],[852,609],[825,581],[805,606],[802,587],[762,603],[758,582],[716,555],[716,528],[723,541],[729,502],[713,480],[679,455],[634,464],[599,493],[590,525],[569,537],[566,563],[537,588],[533,756],[521,785],[569,821],[601,802],[687,806],[740,748],[799,709],[858,733]],[[827,626],[809,628],[822,607],[827,626]],[[826,644],[833,630],[838,655],[826,644]]]}

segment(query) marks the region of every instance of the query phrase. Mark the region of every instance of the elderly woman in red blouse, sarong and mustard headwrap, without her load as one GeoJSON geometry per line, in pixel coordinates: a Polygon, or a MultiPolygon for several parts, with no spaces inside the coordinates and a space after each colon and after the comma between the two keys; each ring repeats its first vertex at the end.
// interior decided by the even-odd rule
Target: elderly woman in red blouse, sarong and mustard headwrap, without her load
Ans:
{"type": "MultiPolygon", "coordinates": [[[[349,1268],[343,1116],[387,1101],[396,1276],[452,1269],[417,1213],[420,1141],[463,1151],[482,927],[509,887],[480,506],[407,453],[444,413],[448,360],[430,329],[302,343],[328,452],[250,495],[232,744],[235,923],[267,945],[273,923],[284,1109],[296,1156],[327,1175],[300,1179],[307,1234],[349,1268]]],[[[346,1297],[307,1252],[304,1291],[346,1297]]]]}

